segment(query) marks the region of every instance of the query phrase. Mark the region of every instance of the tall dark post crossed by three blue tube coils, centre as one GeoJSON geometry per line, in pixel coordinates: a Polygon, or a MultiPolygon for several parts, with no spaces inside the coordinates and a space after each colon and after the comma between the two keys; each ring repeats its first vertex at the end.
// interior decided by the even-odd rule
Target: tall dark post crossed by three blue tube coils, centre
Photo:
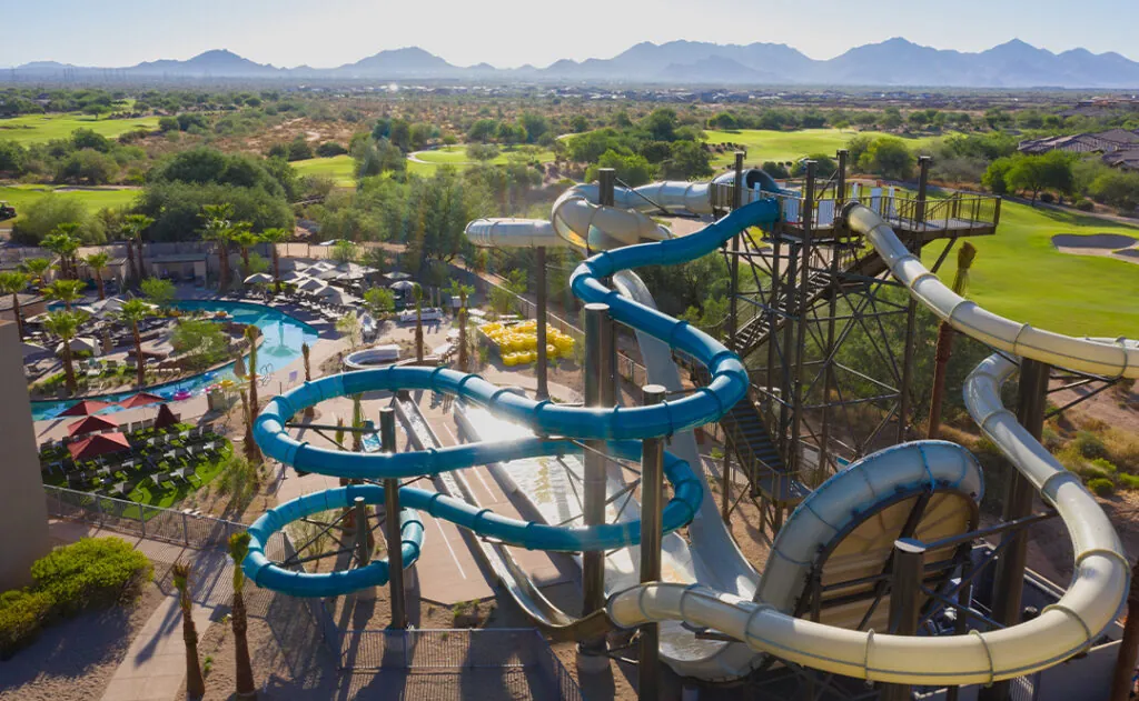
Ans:
{"type": "MultiPolygon", "coordinates": [[[[587,304],[585,314],[585,406],[613,406],[613,358],[615,333],[609,305],[587,304]]],[[[607,447],[604,440],[588,440],[584,454],[582,514],[587,526],[605,522],[605,484],[608,471],[607,447]]],[[[605,552],[582,553],[582,616],[605,607],[605,552]]],[[[604,655],[605,638],[582,641],[584,657],[604,655]]],[[[606,661],[608,666],[608,661],[606,661]]]]}

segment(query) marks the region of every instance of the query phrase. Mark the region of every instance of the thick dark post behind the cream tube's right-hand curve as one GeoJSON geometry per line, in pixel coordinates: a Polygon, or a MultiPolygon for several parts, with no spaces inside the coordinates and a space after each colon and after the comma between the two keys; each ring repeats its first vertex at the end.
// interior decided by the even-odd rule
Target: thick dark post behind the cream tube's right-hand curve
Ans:
{"type": "MultiPolygon", "coordinates": [[[[1031,358],[1021,360],[1021,384],[1016,397],[1016,418],[1033,438],[1040,440],[1044,429],[1044,410],[1048,404],[1048,376],[1051,368],[1031,358]]],[[[1021,472],[1009,465],[1008,490],[1005,493],[1002,520],[1008,522],[1032,513],[1035,490],[1021,472]]],[[[1001,536],[1003,553],[997,561],[993,576],[992,618],[1002,626],[1021,622],[1021,597],[1024,593],[1024,568],[1029,558],[1029,531],[1016,529],[1001,536]]],[[[981,701],[1006,701],[1008,681],[984,687],[981,701]]]]}

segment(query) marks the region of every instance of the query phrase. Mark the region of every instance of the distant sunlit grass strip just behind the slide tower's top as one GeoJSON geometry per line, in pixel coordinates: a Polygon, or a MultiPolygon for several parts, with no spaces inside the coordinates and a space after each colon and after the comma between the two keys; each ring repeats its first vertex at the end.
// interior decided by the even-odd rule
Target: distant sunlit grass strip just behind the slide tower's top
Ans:
{"type": "MultiPolygon", "coordinates": [[[[741,143],[747,148],[747,163],[759,165],[764,160],[797,160],[811,154],[827,154],[834,156],[835,151],[846,146],[846,143],[860,134],[869,137],[896,137],[884,132],[865,131],[853,129],[804,129],[800,131],[785,132],[763,129],[741,129],[736,131],[706,130],[708,143],[741,143]]],[[[917,139],[904,139],[911,149],[916,147],[934,143],[944,137],[920,137],[917,139]]],[[[730,152],[720,154],[712,160],[713,167],[731,165],[735,156],[730,152]]]]}

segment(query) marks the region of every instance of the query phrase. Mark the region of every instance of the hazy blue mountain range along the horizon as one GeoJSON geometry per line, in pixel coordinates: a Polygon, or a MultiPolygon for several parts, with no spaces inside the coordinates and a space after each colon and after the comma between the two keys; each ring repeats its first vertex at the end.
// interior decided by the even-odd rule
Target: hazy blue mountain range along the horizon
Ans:
{"type": "Polygon", "coordinates": [[[16,66],[17,80],[115,76],[140,80],[446,80],[670,85],[866,85],[952,88],[1139,88],[1139,63],[1118,53],[1072,49],[1054,53],[1023,41],[980,52],[923,47],[895,38],[816,60],[786,44],[642,42],[613,58],[562,59],[544,68],[456,66],[416,47],[380,51],[333,68],[280,68],[231,51],[121,68],[36,61],[16,66]]]}

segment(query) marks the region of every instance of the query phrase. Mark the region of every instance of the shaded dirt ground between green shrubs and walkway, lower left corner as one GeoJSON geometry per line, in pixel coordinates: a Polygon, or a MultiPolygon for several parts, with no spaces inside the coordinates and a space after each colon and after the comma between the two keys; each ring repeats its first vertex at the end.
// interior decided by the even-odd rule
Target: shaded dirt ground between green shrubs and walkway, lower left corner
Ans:
{"type": "Polygon", "coordinates": [[[131,641],[165,599],[147,584],[132,605],[92,611],[43,630],[0,662],[2,701],[90,701],[103,696],[131,641]]]}

